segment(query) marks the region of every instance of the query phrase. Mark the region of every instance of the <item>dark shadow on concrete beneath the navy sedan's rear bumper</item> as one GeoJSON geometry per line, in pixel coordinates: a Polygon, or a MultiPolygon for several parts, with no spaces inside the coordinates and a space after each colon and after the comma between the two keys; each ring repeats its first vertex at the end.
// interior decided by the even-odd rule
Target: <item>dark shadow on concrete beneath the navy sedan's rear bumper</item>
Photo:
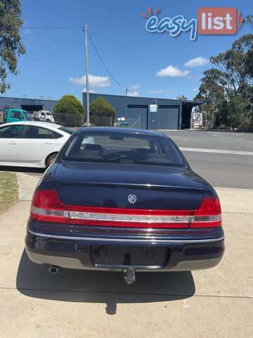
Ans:
{"type": "Polygon", "coordinates": [[[186,299],[195,293],[193,276],[188,272],[136,273],[136,282],[127,285],[122,273],[60,269],[48,272],[48,265],[32,263],[22,253],[16,287],[21,294],[40,299],[84,303],[105,303],[114,315],[117,303],[149,303],[186,299]]]}

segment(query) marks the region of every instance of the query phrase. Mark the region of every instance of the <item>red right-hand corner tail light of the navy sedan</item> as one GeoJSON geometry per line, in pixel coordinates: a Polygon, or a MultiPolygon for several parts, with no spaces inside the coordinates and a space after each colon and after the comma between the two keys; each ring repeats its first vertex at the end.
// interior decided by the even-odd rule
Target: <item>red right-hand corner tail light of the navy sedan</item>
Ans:
{"type": "Polygon", "coordinates": [[[221,227],[222,215],[219,198],[204,197],[194,213],[190,227],[221,227]]]}

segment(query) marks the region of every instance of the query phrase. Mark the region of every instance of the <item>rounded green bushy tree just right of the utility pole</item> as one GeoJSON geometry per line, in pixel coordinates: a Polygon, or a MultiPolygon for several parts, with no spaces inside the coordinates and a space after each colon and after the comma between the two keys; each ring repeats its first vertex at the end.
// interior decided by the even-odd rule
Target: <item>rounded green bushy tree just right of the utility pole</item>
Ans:
{"type": "Polygon", "coordinates": [[[90,114],[94,125],[111,125],[115,120],[115,108],[103,97],[98,97],[91,103],[90,114]]]}

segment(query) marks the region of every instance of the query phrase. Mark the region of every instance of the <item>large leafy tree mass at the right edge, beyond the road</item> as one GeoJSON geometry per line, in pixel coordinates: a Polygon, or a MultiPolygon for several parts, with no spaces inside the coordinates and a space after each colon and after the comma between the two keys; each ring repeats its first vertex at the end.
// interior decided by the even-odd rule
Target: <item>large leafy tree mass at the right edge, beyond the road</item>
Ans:
{"type": "Polygon", "coordinates": [[[243,35],[231,49],[210,58],[215,68],[204,72],[195,99],[205,101],[205,125],[253,125],[253,35],[243,35]]]}

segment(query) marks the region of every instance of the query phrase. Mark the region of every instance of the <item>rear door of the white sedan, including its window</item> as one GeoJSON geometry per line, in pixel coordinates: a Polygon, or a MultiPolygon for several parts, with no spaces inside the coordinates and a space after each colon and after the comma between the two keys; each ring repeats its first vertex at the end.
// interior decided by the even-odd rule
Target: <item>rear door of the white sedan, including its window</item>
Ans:
{"type": "Polygon", "coordinates": [[[56,144],[53,131],[36,125],[26,125],[18,147],[18,160],[22,163],[39,163],[51,154],[56,144]]]}

